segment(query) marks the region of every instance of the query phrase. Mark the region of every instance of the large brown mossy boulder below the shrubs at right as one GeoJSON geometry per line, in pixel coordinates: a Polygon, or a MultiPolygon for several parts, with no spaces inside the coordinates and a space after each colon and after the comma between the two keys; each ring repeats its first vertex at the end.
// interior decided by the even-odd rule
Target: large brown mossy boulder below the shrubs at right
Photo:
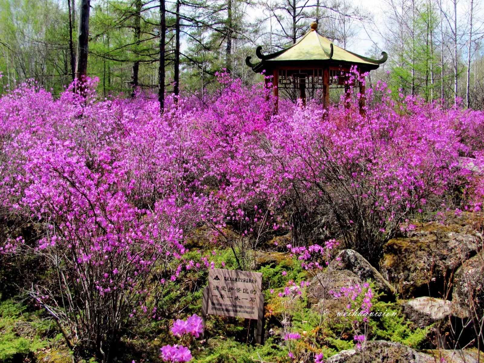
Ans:
{"type": "Polygon", "coordinates": [[[477,250],[471,223],[465,218],[446,226],[424,223],[405,237],[390,240],[384,246],[380,272],[404,299],[444,296],[444,280],[477,250]]]}

